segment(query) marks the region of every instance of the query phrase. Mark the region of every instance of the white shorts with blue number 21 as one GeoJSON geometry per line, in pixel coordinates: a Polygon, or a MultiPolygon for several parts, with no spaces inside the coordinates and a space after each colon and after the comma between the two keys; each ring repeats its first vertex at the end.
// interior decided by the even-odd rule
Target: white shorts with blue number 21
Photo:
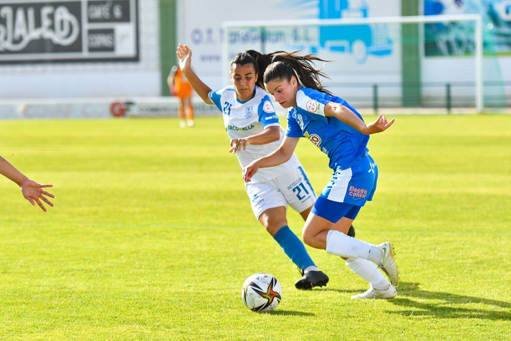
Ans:
{"type": "Polygon", "coordinates": [[[316,193],[305,170],[298,166],[264,183],[246,183],[248,198],[255,218],[268,209],[288,204],[296,212],[303,212],[316,202],[316,193]]]}

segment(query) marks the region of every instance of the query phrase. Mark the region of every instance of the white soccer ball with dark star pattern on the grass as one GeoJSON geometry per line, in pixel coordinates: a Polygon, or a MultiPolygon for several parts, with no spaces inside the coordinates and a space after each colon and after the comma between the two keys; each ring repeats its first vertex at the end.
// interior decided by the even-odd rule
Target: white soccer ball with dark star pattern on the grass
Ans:
{"type": "Polygon", "coordinates": [[[252,311],[272,311],[281,302],[282,286],[275,277],[259,272],[243,283],[241,298],[252,311]]]}

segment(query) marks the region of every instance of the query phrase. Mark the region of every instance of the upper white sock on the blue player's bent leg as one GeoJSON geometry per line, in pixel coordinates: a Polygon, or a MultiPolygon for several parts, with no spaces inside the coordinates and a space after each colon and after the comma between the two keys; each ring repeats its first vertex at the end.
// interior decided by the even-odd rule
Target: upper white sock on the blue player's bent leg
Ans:
{"type": "Polygon", "coordinates": [[[368,259],[374,263],[379,263],[383,257],[382,252],[376,245],[347,236],[336,230],[328,232],[327,252],[346,258],[368,259]]]}

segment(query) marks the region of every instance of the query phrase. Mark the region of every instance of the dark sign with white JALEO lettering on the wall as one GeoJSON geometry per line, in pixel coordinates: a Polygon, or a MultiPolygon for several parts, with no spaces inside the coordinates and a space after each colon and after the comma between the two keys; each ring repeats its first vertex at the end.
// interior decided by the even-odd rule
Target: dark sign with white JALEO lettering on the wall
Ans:
{"type": "Polygon", "coordinates": [[[137,0],[0,4],[0,63],[138,61],[137,0]]]}

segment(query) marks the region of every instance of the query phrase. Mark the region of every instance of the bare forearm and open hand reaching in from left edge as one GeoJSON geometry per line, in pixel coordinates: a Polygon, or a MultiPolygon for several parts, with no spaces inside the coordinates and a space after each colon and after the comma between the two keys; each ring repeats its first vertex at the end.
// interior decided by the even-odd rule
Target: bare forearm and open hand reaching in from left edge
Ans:
{"type": "Polygon", "coordinates": [[[43,190],[43,188],[53,187],[53,185],[41,185],[36,183],[14,168],[14,166],[8,163],[2,156],[0,156],[0,174],[16,183],[21,189],[23,197],[27,199],[32,206],[37,203],[44,212],[47,212],[47,209],[44,207],[41,200],[52,207],[54,206],[53,203],[44,195],[49,196],[50,198],[55,198],[55,195],[43,190]]]}

